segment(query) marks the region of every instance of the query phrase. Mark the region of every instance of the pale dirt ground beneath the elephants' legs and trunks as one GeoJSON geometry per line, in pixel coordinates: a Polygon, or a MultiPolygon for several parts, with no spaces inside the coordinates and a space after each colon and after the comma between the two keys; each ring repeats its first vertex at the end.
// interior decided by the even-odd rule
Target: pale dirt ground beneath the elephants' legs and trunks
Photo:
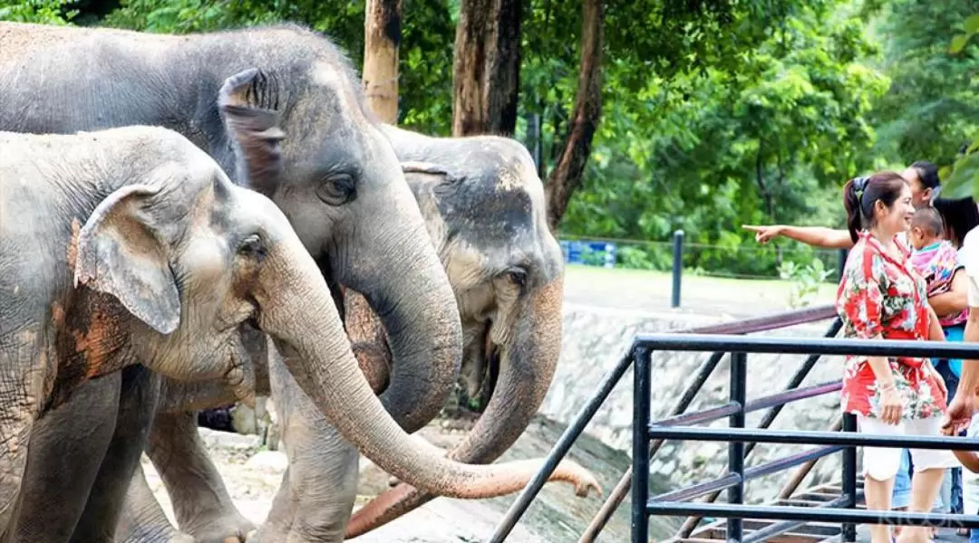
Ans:
{"type": "MultiPolygon", "coordinates": [[[[433,421],[420,435],[433,444],[449,448],[464,436],[467,427],[458,421],[433,421]],[[455,427],[455,428],[449,428],[455,427]]],[[[280,451],[264,450],[256,436],[241,436],[202,428],[201,436],[239,511],[260,523],[268,514],[272,498],[286,467],[280,451]]],[[[524,436],[498,462],[542,458],[565,430],[563,425],[538,417],[524,436]]],[[[596,439],[586,436],[572,448],[570,458],[595,474],[605,495],[629,467],[629,458],[596,439]]],[[[151,488],[173,522],[169,499],[153,465],[143,458],[143,468],[151,488]]],[[[361,458],[358,499],[354,509],[387,487],[388,476],[370,461],[361,458]]],[[[655,484],[654,484],[655,487],[655,484]]],[[[488,500],[437,498],[401,519],[357,537],[362,543],[475,543],[487,541],[503,519],[517,494],[488,500]]],[[[577,541],[587,522],[598,511],[602,499],[594,494],[576,497],[571,486],[548,483],[534,504],[507,538],[514,543],[562,543],[577,541]]],[[[654,523],[653,531],[665,526],[654,523]]],[[[600,542],[629,540],[629,500],[623,504],[603,531],[600,542]]]]}

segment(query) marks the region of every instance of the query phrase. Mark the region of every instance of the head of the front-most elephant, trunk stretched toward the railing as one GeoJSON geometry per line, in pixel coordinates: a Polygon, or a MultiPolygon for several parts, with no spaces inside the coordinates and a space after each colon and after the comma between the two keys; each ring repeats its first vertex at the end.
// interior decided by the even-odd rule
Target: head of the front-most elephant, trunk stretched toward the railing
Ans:
{"type": "MultiPolygon", "coordinates": [[[[180,152],[146,175],[125,176],[142,181],[98,204],[77,235],[74,267],[77,283],[112,295],[137,322],[128,341],[135,359],[177,379],[227,373],[244,363],[240,329],[251,325],[267,334],[340,435],[402,480],[482,498],[515,491],[534,475],[539,462],[453,462],[398,427],[361,374],[330,288],[282,211],[233,185],[187,140],[150,130],[152,138],[134,148],[177,139],[180,152]]],[[[97,321],[90,340],[96,324],[105,329],[97,321]]],[[[574,463],[551,480],[573,482],[582,495],[598,488],[574,463]]]]}

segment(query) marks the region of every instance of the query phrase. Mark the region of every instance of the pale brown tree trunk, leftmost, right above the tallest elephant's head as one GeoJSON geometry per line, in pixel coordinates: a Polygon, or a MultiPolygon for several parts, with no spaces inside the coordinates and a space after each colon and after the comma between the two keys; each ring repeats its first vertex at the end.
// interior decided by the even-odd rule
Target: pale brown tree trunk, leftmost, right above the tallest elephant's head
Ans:
{"type": "Polygon", "coordinates": [[[386,123],[397,123],[397,46],[401,0],[367,0],[363,84],[367,105],[386,123]]]}

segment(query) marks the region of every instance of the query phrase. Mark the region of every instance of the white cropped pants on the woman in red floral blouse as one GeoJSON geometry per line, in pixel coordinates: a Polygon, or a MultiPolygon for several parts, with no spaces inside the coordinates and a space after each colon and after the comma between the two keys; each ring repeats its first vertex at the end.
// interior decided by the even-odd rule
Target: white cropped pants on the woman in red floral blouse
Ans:
{"type": "MultiPolygon", "coordinates": [[[[862,434],[880,436],[941,436],[942,417],[904,420],[897,425],[885,424],[876,418],[857,417],[862,434]]],[[[911,448],[911,464],[914,472],[933,468],[959,468],[956,455],[951,450],[911,448]]],[[[863,447],[863,475],[875,480],[889,480],[901,467],[901,449],[894,447],[863,447]]]]}

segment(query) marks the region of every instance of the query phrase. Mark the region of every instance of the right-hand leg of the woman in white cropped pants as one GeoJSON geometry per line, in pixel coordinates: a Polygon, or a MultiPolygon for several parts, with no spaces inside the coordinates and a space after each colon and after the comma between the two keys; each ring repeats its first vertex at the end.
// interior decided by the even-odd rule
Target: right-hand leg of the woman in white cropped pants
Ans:
{"type": "MultiPolygon", "coordinates": [[[[908,436],[939,436],[942,417],[905,421],[903,426],[908,436]]],[[[914,475],[911,477],[909,511],[923,513],[934,506],[946,469],[955,467],[957,461],[950,450],[912,448],[910,452],[914,475]]],[[[908,526],[902,530],[900,542],[924,543],[928,541],[930,531],[924,526],[908,526]]]]}

